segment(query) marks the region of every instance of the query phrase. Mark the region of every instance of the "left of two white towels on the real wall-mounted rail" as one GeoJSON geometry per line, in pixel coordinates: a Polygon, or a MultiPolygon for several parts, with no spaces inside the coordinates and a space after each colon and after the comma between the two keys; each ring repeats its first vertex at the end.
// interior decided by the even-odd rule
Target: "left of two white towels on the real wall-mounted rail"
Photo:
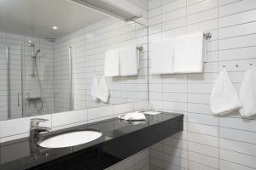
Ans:
{"type": "Polygon", "coordinates": [[[153,42],[151,48],[151,74],[173,73],[173,45],[172,39],[162,42],[153,42]]]}

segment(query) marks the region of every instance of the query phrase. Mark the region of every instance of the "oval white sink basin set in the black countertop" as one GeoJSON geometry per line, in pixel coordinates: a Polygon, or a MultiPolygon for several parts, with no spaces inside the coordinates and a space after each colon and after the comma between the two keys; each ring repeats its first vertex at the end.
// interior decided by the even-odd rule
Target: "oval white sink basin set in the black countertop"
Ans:
{"type": "Polygon", "coordinates": [[[96,131],[75,131],[70,133],[59,134],[38,142],[38,145],[44,148],[64,148],[85,144],[98,139],[102,133],[96,131]]]}

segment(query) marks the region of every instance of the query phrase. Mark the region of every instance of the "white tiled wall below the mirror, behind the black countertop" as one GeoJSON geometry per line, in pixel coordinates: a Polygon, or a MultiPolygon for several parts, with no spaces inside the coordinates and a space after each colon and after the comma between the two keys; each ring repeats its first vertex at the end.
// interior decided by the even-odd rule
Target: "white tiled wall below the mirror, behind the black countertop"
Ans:
{"type": "MultiPolygon", "coordinates": [[[[148,101],[139,101],[134,103],[126,103],[121,105],[108,105],[99,108],[92,108],[88,110],[80,111],[67,111],[62,113],[55,113],[52,115],[44,116],[33,116],[33,117],[24,117],[20,119],[14,119],[9,121],[0,122],[0,143],[13,140],[25,138],[29,135],[29,126],[30,119],[32,118],[44,118],[48,119],[49,122],[43,122],[41,125],[44,127],[51,127],[53,131],[78,126],[86,124],[89,122],[96,122],[112,117],[119,116],[129,111],[139,111],[146,108],[148,101]]],[[[23,146],[19,146],[23,147],[23,146]]],[[[24,147],[28,147],[24,145],[24,147]]],[[[8,150],[8,145],[4,150],[8,150]]],[[[1,162],[11,161],[18,159],[19,156],[26,156],[29,153],[15,153],[16,150],[9,150],[9,153],[12,153],[10,156],[0,156],[1,162]]],[[[1,152],[1,150],[0,150],[1,152]]],[[[1,155],[1,153],[0,153],[1,155]]],[[[143,150],[137,153],[134,156],[131,156],[124,161],[119,162],[113,167],[109,167],[109,170],[148,170],[149,169],[149,150],[143,150]]]]}

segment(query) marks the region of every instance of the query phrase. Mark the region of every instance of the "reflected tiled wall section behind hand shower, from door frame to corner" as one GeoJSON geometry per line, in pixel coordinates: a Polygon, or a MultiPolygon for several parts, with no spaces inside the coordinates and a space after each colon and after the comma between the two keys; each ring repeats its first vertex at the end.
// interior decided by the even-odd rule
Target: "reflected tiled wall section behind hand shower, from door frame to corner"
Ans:
{"type": "MultiPolygon", "coordinates": [[[[53,42],[48,42],[44,39],[25,37],[23,42],[23,65],[24,65],[24,115],[37,116],[41,114],[53,113],[54,110],[54,79],[53,79],[53,42]],[[37,111],[34,105],[29,105],[26,100],[30,97],[40,96],[39,85],[37,77],[32,77],[32,48],[31,44],[27,42],[31,40],[35,44],[35,51],[40,49],[38,54],[38,74],[40,77],[44,105],[42,111],[37,111]]],[[[41,104],[38,103],[38,108],[41,104]]]]}

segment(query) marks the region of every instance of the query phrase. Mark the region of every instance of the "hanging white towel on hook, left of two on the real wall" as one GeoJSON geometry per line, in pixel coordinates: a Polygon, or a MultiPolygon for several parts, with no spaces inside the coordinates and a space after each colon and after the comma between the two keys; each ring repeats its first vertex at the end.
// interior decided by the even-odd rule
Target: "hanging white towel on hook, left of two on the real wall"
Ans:
{"type": "Polygon", "coordinates": [[[217,81],[214,83],[210,105],[214,115],[224,115],[241,107],[236,89],[225,69],[219,73],[217,81]]]}

